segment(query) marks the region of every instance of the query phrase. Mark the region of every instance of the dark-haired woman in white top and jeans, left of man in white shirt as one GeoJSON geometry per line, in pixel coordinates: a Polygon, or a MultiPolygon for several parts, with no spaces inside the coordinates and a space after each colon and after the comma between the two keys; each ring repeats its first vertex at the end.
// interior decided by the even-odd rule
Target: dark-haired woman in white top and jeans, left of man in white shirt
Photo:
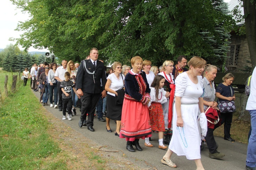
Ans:
{"type": "Polygon", "coordinates": [[[54,94],[54,108],[58,108],[58,87],[57,87],[57,80],[55,79],[54,75],[57,69],[56,63],[51,63],[52,69],[49,70],[48,73],[48,88],[49,88],[49,99],[50,99],[50,106],[53,107],[53,94],[54,94]]]}

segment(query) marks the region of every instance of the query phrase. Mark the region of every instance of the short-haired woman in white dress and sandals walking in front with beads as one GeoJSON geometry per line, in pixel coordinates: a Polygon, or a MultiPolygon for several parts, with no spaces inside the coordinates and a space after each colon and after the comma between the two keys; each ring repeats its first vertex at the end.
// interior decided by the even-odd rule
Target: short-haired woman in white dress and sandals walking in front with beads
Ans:
{"type": "Polygon", "coordinates": [[[194,159],[197,170],[203,170],[197,115],[199,109],[201,113],[204,112],[201,74],[206,61],[200,57],[193,57],[187,65],[189,66],[189,71],[180,74],[175,80],[173,125],[176,124],[176,128],[173,128],[173,137],[161,162],[176,168],[176,164],[170,159],[172,153],[175,152],[178,156],[185,155],[187,159],[194,159]]]}

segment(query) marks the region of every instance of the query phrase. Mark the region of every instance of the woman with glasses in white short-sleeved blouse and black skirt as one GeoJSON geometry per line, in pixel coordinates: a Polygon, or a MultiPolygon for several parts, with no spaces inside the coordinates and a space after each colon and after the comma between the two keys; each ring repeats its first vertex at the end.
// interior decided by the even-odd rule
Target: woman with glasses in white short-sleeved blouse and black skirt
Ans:
{"type": "Polygon", "coordinates": [[[114,73],[110,74],[107,78],[105,85],[105,90],[108,91],[106,97],[106,105],[108,112],[106,113],[106,130],[107,132],[112,132],[109,122],[110,119],[116,121],[115,136],[119,137],[120,125],[121,125],[121,115],[123,104],[116,104],[116,96],[118,96],[118,91],[120,90],[124,94],[124,79],[125,77],[122,72],[122,64],[119,62],[114,62],[112,67],[114,68],[114,73]],[[122,90],[121,90],[122,89],[122,90]]]}

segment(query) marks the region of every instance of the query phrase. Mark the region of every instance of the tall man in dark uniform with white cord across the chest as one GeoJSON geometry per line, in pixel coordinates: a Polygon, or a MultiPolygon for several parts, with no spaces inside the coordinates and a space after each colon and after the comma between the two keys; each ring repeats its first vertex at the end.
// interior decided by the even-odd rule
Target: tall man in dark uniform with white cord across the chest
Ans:
{"type": "Polygon", "coordinates": [[[79,126],[87,124],[90,131],[94,131],[93,120],[96,105],[98,104],[100,95],[106,96],[105,84],[106,75],[104,64],[98,61],[98,49],[92,48],[90,50],[90,59],[81,61],[79,69],[76,74],[76,88],[77,94],[81,96],[81,117],[79,126]],[[101,82],[102,81],[102,88],[101,82]],[[101,89],[103,91],[101,92],[101,89]],[[85,124],[86,114],[88,113],[88,120],[85,124]]]}

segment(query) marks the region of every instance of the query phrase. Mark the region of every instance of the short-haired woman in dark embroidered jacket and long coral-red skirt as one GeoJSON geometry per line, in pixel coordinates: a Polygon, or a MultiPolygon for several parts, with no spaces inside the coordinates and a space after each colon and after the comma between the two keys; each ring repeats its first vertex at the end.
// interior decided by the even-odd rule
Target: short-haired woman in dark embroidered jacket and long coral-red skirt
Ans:
{"type": "Polygon", "coordinates": [[[132,69],[125,76],[125,98],[122,109],[120,138],[126,138],[126,149],[142,151],[139,139],[151,137],[150,118],[147,104],[150,102],[150,88],[145,72],[141,72],[142,58],[131,59],[132,69]]]}

